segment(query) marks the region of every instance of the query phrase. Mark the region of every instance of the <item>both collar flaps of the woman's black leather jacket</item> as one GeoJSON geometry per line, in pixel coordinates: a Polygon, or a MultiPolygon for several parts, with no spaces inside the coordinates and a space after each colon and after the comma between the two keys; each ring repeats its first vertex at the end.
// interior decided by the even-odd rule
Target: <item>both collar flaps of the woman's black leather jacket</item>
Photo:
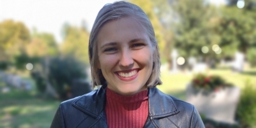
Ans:
{"type": "MultiPolygon", "coordinates": [[[[87,113],[95,118],[101,116],[104,112],[106,101],[106,87],[100,87],[97,90],[80,96],[73,101],[72,105],[80,111],[87,113]]],[[[149,116],[151,118],[163,118],[179,113],[171,96],[162,93],[157,88],[149,88],[149,116]]]]}

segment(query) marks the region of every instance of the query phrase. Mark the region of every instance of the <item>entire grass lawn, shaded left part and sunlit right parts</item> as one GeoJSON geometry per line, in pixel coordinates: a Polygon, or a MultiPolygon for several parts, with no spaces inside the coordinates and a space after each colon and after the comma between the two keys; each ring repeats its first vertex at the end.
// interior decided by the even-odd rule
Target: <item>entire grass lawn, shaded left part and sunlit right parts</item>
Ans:
{"type": "MultiPolygon", "coordinates": [[[[161,69],[163,85],[158,86],[164,93],[185,100],[185,88],[193,77],[188,73],[169,73],[165,66],[161,69]]],[[[256,86],[256,69],[246,69],[244,73],[233,73],[230,69],[210,69],[207,74],[218,74],[227,82],[240,88],[246,80],[256,86]]],[[[28,78],[29,79],[29,78],[28,78]]],[[[0,81],[0,89],[6,85],[0,81]]],[[[60,101],[38,98],[35,86],[32,91],[11,88],[9,93],[0,93],[0,127],[49,127],[60,101]]]]}

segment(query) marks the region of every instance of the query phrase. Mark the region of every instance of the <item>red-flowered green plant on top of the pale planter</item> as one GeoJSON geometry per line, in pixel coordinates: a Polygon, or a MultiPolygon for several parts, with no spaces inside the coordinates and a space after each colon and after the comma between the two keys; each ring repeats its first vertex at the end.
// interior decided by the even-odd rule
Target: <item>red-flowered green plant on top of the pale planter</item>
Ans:
{"type": "Polygon", "coordinates": [[[220,76],[196,74],[192,80],[192,86],[197,89],[204,88],[205,90],[216,91],[219,88],[231,87],[233,85],[226,83],[220,76]]]}

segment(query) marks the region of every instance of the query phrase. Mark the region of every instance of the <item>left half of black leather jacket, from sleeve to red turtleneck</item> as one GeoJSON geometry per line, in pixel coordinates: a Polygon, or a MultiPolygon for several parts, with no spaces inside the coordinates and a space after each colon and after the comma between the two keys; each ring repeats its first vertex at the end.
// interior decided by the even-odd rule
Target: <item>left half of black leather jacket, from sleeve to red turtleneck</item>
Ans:
{"type": "Polygon", "coordinates": [[[96,101],[103,101],[96,99],[98,95],[102,94],[99,94],[99,90],[94,90],[82,96],[63,101],[54,116],[51,127],[93,126],[98,121],[99,114],[102,112],[102,107],[104,107],[104,105],[102,107],[101,105],[98,106],[96,101]],[[93,112],[90,112],[90,110],[93,110],[93,112]]]}

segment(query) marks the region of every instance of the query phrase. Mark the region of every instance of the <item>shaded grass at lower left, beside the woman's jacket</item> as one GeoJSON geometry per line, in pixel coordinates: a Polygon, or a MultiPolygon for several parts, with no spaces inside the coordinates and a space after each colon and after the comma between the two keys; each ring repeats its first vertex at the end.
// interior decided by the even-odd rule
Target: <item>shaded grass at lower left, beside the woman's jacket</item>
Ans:
{"type": "MultiPolygon", "coordinates": [[[[5,87],[0,82],[0,87],[5,87]]],[[[36,98],[34,91],[0,93],[0,127],[50,127],[60,101],[36,98]]]]}

